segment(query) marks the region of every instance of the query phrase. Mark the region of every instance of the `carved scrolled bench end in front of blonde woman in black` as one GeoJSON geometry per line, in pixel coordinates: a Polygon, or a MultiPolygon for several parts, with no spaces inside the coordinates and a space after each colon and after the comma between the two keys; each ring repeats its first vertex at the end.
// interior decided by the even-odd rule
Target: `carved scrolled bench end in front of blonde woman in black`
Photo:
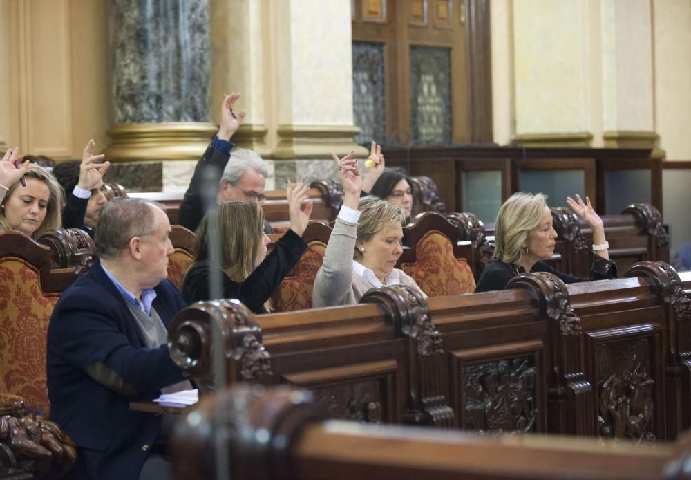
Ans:
{"type": "MultiPolygon", "coordinates": [[[[582,329],[580,318],[571,308],[566,285],[551,273],[525,273],[509,282],[507,288],[524,288],[538,300],[541,315],[550,322],[551,387],[553,400],[566,400],[562,416],[569,423],[569,434],[595,434],[593,389],[580,362],[582,329]],[[567,413],[568,412],[568,413],[567,413]],[[577,412],[576,415],[571,412],[577,412]]],[[[555,405],[558,408],[558,405],[555,405]]]]}

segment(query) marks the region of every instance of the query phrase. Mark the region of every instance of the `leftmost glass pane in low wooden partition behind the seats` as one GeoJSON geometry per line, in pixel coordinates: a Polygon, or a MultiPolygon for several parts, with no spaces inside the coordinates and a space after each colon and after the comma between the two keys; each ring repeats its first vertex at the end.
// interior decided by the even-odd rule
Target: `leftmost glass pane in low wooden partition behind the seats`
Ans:
{"type": "Polygon", "coordinates": [[[501,170],[463,172],[463,210],[486,222],[497,219],[502,206],[501,170]]]}

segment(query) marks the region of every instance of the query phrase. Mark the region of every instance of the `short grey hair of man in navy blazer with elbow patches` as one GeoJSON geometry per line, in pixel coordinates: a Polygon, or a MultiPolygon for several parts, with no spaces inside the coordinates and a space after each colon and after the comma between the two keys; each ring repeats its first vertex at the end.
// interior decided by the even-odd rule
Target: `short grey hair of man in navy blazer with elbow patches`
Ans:
{"type": "Polygon", "coordinates": [[[154,208],[163,210],[159,203],[131,197],[106,203],[96,224],[96,254],[106,260],[117,259],[133,237],[152,237],[157,228],[154,208]]]}

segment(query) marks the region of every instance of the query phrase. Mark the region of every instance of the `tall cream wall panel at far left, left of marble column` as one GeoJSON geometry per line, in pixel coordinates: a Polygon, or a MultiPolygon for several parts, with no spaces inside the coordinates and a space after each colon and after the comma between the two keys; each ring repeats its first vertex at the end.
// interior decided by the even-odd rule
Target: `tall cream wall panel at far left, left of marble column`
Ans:
{"type": "Polygon", "coordinates": [[[23,151],[68,158],[73,151],[69,3],[17,3],[23,151]]]}

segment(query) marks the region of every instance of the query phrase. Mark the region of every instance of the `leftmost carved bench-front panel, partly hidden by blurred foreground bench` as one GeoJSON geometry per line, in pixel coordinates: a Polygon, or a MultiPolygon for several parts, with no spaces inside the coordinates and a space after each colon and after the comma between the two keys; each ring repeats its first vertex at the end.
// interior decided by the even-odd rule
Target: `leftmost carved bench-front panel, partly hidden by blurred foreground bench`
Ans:
{"type": "Polygon", "coordinates": [[[397,364],[392,360],[352,367],[292,373],[283,382],[305,387],[329,418],[361,422],[397,423],[397,364]]]}

